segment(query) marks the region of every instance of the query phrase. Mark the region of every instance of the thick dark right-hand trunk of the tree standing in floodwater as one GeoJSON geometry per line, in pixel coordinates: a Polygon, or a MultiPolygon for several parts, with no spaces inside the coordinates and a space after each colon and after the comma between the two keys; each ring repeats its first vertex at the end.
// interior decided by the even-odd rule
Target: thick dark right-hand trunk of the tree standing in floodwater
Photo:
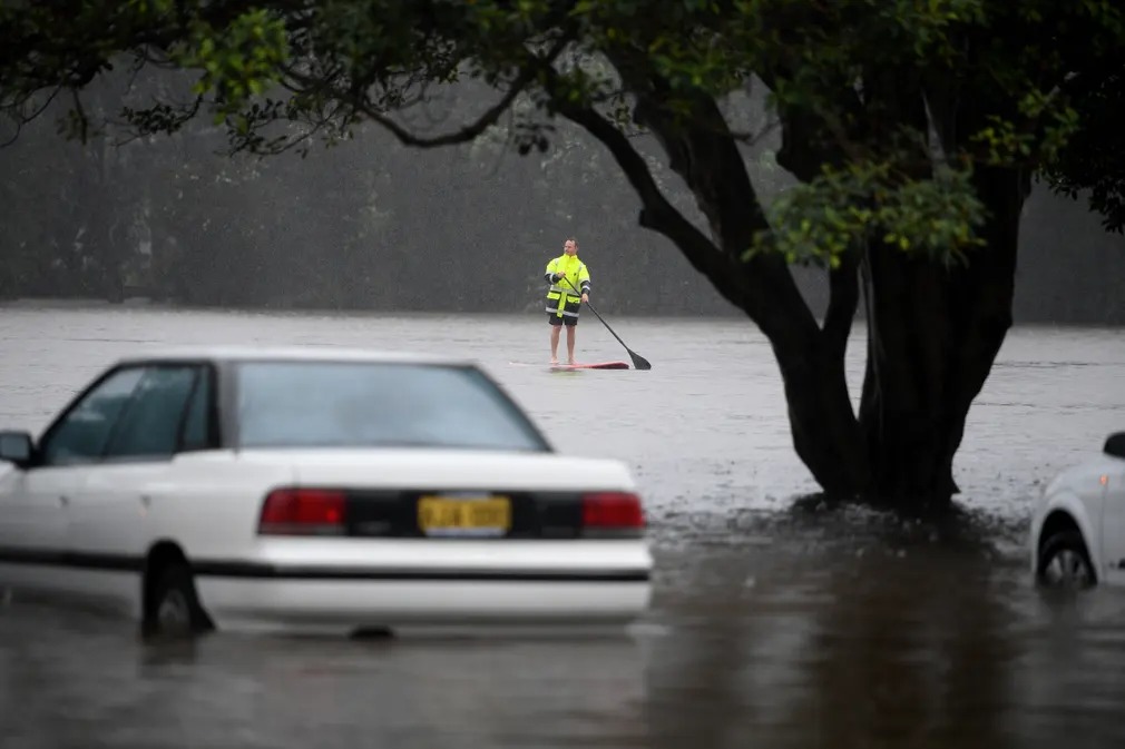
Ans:
{"type": "Polygon", "coordinates": [[[946,269],[880,245],[870,273],[867,370],[860,406],[868,495],[908,512],[942,512],[958,493],[953,458],[969,408],[1011,326],[1026,177],[984,170],[988,245],[946,269]]]}

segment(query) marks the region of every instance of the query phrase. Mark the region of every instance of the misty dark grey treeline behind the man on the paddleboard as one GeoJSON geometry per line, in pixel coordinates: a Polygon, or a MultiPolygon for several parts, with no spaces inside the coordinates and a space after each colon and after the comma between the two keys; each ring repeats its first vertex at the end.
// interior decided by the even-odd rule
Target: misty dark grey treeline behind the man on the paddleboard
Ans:
{"type": "MultiPolygon", "coordinates": [[[[99,83],[83,107],[111,116],[162,84],[130,83],[127,94],[120,79],[99,83]]],[[[314,142],[304,157],[263,160],[219,153],[206,117],[172,137],[129,139],[110,125],[86,144],[66,141],[65,106],[0,148],[0,299],[531,313],[547,261],[574,235],[603,312],[740,315],[670,242],[638,226],[639,201],[612,157],[565,123],[546,152],[524,156],[504,128],[418,150],[369,127],[330,148],[314,142]]],[[[790,183],[773,160],[778,144],[760,96],[745,106],[754,132],[767,133],[747,147],[752,178],[775,195],[790,183]]],[[[822,309],[822,271],[796,273],[822,309]]],[[[1125,323],[1125,238],[1106,234],[1084,202],[1036,184],[1016,282],[1016,322],[1125,323]]]]}

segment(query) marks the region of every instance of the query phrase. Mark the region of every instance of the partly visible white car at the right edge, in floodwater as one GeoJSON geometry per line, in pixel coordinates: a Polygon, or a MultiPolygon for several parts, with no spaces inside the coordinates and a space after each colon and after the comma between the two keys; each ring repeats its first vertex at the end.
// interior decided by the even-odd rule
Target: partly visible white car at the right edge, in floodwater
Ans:
{"type": "Polygon", "coordinates": [[[1032,515],[1030,551],[1041,585],[1125,583],[1125,432],[1110,434],[1100,455],[1044,487],[1032,515]]]}

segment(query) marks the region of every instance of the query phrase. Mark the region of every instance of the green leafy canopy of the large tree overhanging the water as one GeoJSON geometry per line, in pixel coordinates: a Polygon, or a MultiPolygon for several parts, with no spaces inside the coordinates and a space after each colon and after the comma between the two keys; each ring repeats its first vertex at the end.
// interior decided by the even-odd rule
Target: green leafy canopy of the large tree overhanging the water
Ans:
{"type": "MultiPolygon", "coordinates": [[[[1122,15],[1106,0],[4,0],[0,30],[0,91],[17,119],[114,66],[176,67],[192,72],[179,90],[117,114],[141,133],[208,114],[232,150],[263,153],[364,120],[447,145],[504,117],[516,148],[544,150],[559,115],[615,152],[638,128],[702,125],[745,142],[755,134],[714,105],[757,79],[800,138],[783,163],[802,186],[767,207],[747,249],[768,240],[790,260],[834,263],[875,227],[903,250],[960,255],[978,244],[983,207],[965,181],[978,164],[1052,166],[1064,189],[1117,206],[1091,153],[1119,129],[1106,123],[1122,15]],[[471,123],[423,132],[418,111],[465,79],[497,98],[471,123]],[[970,130],[955,121],[966,109],[979,110],[970,130]],[[1058,159],[1080,128],[1094,137],[1058,159]]],[[[66,123],[78,136],[91,127],[81,101],[66,123]]]]}

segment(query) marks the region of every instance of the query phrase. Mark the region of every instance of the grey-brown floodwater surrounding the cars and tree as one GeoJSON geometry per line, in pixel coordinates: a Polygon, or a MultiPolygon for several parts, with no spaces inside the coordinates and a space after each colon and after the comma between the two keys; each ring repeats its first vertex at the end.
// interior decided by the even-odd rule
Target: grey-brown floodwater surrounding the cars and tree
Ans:
{"type": "MultiPolygon", "coordinates": [[[[796,499],[816,485],[748,324],[608,322],[651,371],[550,372],[538,315],[0,309],[3,427],[38,430],[151,344],[477,358],[561,450],[632,467],[657,560],[652,611],[620,639],[169,647],[0,603],[0,747],[1122,745],[1125,594],[1036,590],[1025,536],[1042,484],[1125,428],[1125,333],[1014,331],[956,463],[964,516],[933,525],[796,499]]],[[[579,360],[628,359],[596,318],[579,327],[579,360]]]]}

